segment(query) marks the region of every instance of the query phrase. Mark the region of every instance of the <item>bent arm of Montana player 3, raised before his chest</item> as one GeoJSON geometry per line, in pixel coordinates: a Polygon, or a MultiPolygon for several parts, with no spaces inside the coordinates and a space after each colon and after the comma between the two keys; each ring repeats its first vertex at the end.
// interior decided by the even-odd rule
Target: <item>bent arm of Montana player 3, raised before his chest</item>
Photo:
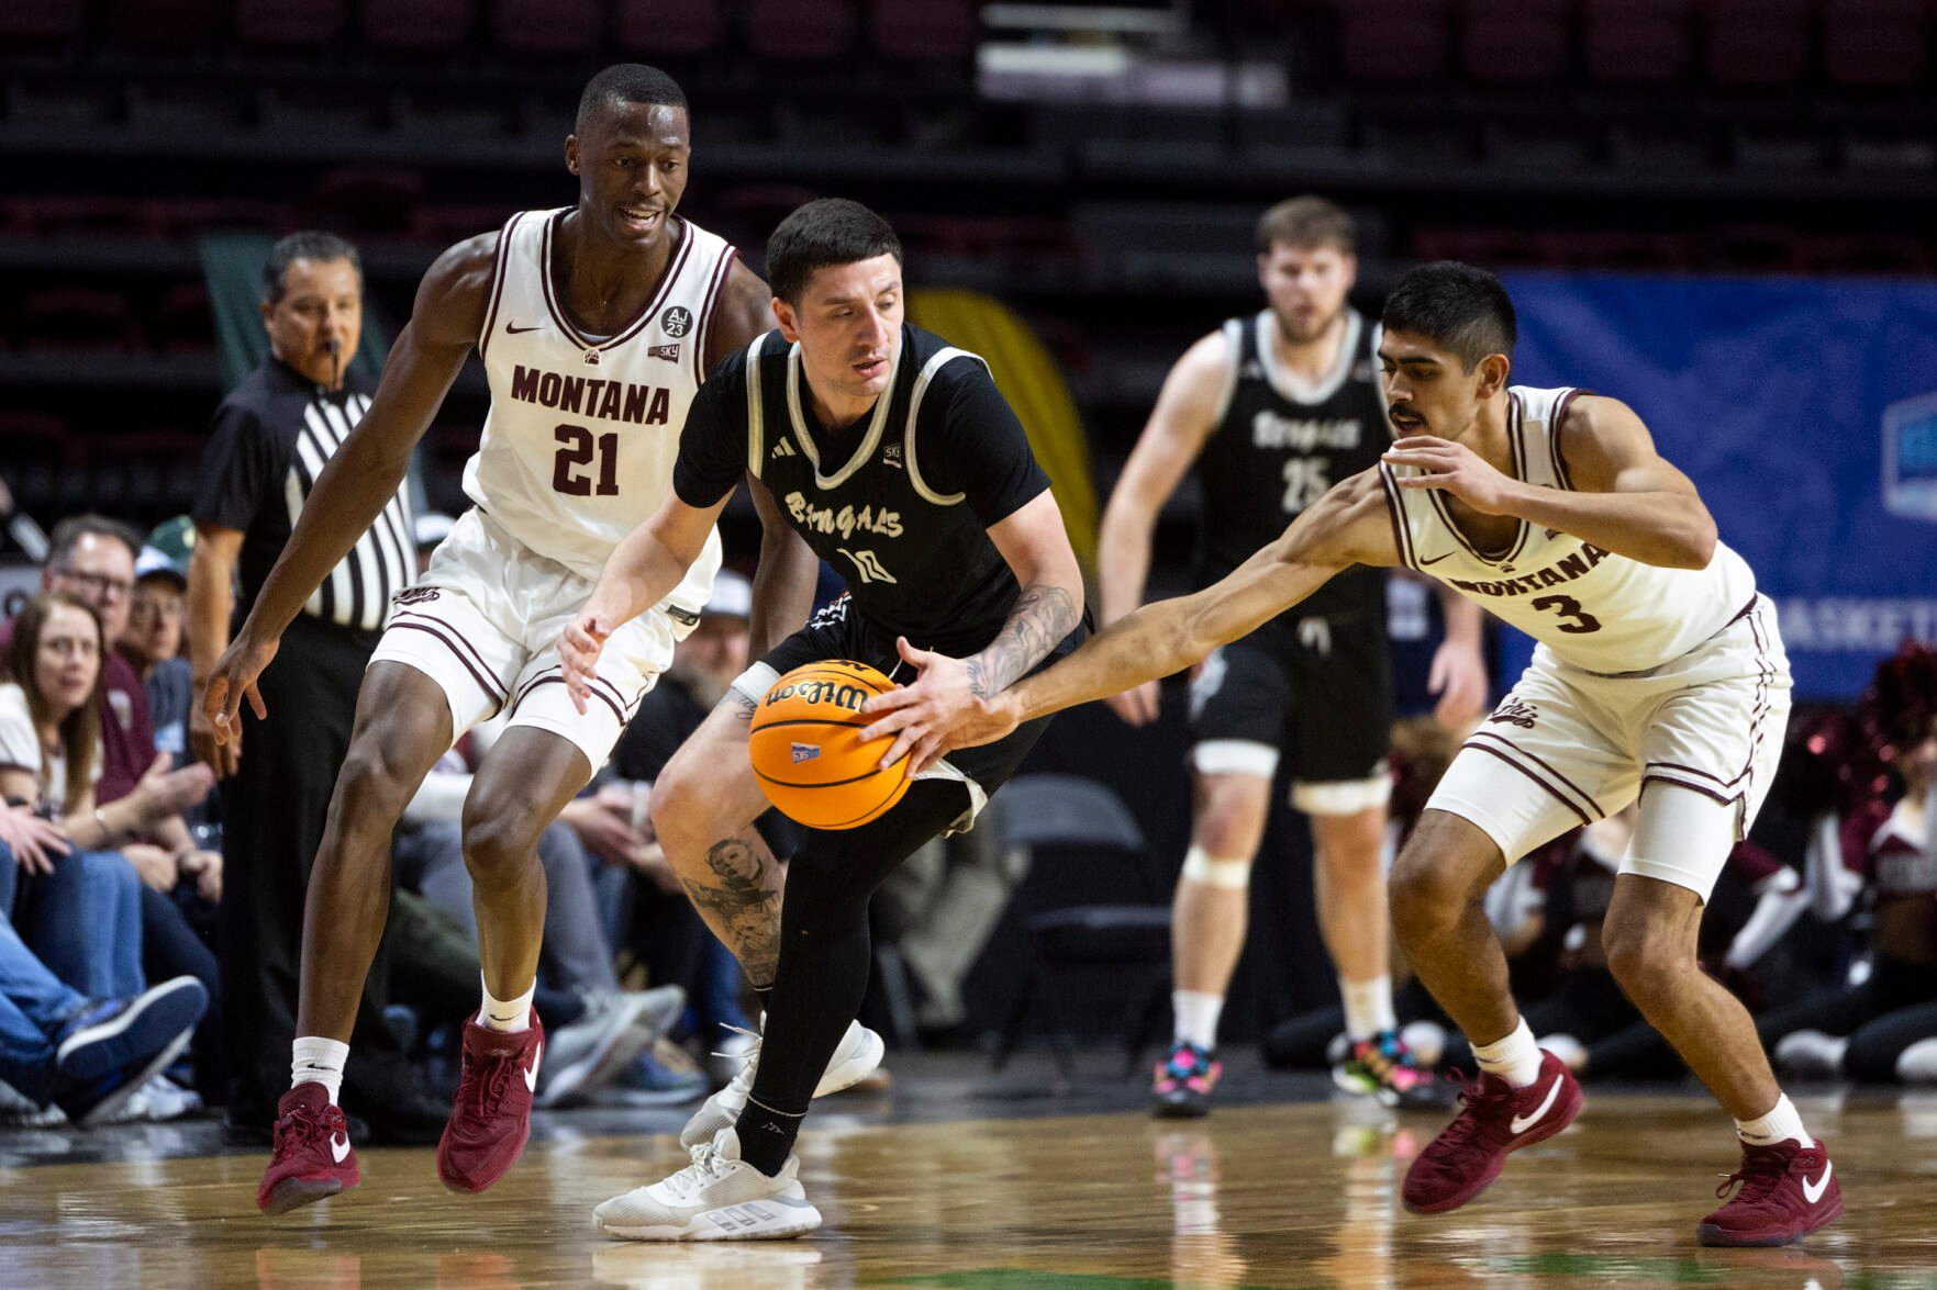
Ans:
{"type": "Polygon", "coordinates": [[[1400,476],[1400,488],[1441,488],[1488,515],[1559,529],[1643,564],[1708,568],[1714,517],[1689,476],[1654,451],[1654,438],[1633,409],[1619,399],[1575,399],[1561,455],[1573,490],[1509,478],[1466,445],[1430,434],[1399,440],[1385,459],[1424,471],[1400,476]]]}

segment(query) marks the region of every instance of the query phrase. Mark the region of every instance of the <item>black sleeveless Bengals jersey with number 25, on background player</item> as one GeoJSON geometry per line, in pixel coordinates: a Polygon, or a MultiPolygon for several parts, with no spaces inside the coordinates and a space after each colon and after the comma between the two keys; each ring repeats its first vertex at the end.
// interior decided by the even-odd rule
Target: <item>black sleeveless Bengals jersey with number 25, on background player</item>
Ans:
{"type": "MultiPolygon", "coordinates": [[[[1269,546],[1284,525],[1338,480],[1379,465],[1391,444],[1379,391],[1375,327],[1346,310],[1338,364],[1313,389],[1294,389],[1273,362],[1271,310],[1232,318],[1224,337],[1236,354],[1216,430],[1197,457],[1203,523],[1197,579],[1207,587],[1269,546]]],[[[1346,569],[1292,610],[1294,618],[1385,620],[1385,583],[1375,569],[1346,569]]]]}

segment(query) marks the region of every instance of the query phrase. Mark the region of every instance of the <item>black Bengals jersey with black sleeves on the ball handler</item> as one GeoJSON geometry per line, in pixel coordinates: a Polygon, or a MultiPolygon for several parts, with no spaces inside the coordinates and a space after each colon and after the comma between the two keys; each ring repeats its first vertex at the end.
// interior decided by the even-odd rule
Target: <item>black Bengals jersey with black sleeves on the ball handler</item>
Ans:
{"type": "Polygon", "coordinates": [[[907,325],[893,382],[839,430],[815,420],[779,331],[721,362],[686,415],[672,486],[705,507],[744,473],[866,618],[957,657],[1001,631],[1021,591],[990,527],[1050,486],[988,364],[907,325]]]}

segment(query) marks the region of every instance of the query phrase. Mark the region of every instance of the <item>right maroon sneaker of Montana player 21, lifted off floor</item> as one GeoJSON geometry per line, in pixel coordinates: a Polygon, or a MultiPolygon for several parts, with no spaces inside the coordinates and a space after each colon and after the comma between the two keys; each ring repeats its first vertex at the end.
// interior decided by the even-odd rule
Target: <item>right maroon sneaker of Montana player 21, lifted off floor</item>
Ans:
{"type": "Polygon", "coordinates": [[[457,1104],[438,1141],[438,1178],[451,1191],[484,1191],[517,1164],[531,1137],[531,1094],[538,1087],[544,1027],[492,1030],[465,1023],[457,1104]]]}

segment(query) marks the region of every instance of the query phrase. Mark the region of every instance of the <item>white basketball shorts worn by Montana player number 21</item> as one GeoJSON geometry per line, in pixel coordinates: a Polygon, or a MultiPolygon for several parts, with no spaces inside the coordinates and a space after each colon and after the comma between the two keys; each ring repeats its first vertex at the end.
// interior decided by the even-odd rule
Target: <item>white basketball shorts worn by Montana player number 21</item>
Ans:
{"type": "Polygon", "coordinates": [[[509,709],[511,726],[577,744],[597,773],[692,624],[666,606],[624,624],[606,641],[593,697],[579,713],[558,662],[558,637],[591,593],[591,579],[538,556],[473,507],[432,552],[416,585],[397,595],[370,662],[403,662],[438,682],[451,707],[453,742],[509,709]]]}

